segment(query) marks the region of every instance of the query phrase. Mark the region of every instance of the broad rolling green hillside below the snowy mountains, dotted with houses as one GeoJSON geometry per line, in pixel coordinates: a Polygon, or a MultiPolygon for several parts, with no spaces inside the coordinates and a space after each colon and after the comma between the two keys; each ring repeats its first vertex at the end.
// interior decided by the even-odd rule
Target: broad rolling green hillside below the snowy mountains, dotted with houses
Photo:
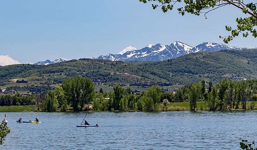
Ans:
{"type": "MultiPolygon", "coordinates": [[[[52,65],[9,65],[0,67],[0,88],[3,86],[58,85],[64,79],[82,75],[99,79],[104,85],[150,80],[190,84],[199,80],[221,78],[257,79],[257,49],[187,54],[166,61],[113,62],[80,59],[52,65]],[[25,79],[30,83],[15,83],[25,79]]],[[[2,88],[3,89],[3,88],[2,88]]]]}

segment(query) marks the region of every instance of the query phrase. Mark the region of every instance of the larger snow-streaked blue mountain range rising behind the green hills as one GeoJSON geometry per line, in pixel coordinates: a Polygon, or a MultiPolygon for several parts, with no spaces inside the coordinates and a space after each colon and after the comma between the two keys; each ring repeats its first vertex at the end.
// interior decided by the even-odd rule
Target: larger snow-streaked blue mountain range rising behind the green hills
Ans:
{"type": "Polygon", "coordinates": [[[177,58],[189,53],[214,52],[221,50],[241,50],[246,47],[232,47],[224,44],[204,42],[195,47],[191,47],[179,41],[170,45],[149,44],[148,46],[134,51],[120,52],[120,54],[108,54],[99,56],[96,59],[106,59],[111,61],[162,61],[169,58],[177,58]]]}

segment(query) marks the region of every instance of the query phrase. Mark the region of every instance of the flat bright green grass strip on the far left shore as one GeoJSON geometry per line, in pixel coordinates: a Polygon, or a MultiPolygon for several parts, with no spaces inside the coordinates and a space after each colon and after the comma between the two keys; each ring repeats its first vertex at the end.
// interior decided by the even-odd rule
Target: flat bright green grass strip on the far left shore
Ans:
{"type": "Polygon", "coordinates": [[[34,105],[0,106],[0,112],[33,112],[34,110],[34,105]]]}

